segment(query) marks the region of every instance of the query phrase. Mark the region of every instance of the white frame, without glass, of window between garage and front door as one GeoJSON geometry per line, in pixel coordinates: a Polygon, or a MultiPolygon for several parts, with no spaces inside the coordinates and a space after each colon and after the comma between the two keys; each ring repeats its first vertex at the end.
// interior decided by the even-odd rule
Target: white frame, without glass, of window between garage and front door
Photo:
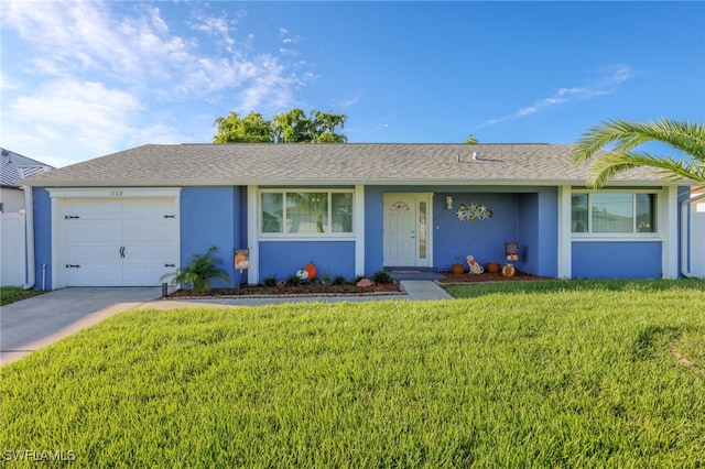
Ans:
{"type": "Polygon", "coordinates": [[[258,190],[258,214],[257,214],[257,232],[258,238],[262,240],[296,240],[296,241],[306,241],[306,240],[323,240],[323,239],[334,239],[334,240],[351,240],[355,239],[355,189],[352,188],[264,188],[258,190]],[[263,231],[263,195],[264,194],[278,194],[282,199],[282,231],[269,232],[263,231]],[[286,198],[289,194],[325,194],[327,201],[327,231],[323,232],[286,232],[286,198]],[[333,214],[333,195],[334,194],[349,194],[350,195],[350,231],[334,231],[334,214],[333,214]]]}

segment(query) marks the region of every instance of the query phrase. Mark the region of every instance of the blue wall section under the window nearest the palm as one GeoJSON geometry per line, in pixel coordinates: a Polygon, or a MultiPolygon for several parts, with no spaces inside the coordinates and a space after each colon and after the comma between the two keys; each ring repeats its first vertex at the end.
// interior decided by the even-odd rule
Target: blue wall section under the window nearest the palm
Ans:
{"type": "Polygon", "coordinates": [[[661,242],[574,242],[573,279],[661,279],[661,242]]]}

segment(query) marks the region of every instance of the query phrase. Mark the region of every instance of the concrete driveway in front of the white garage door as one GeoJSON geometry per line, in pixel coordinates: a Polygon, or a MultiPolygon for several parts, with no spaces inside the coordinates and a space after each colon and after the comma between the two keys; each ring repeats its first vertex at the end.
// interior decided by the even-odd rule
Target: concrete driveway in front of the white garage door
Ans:
{"type": "Polygon", "coordinates": [[[0,308],[0,366],[132,309],[162,294],[160,287],[62,288],[0,308]]]}

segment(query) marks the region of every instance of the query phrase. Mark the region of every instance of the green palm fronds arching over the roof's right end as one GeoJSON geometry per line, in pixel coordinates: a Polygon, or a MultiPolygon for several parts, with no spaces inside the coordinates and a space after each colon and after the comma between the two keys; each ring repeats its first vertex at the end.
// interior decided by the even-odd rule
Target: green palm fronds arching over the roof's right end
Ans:
{"type": "Polygon", "coordinates": [[[705,185],[705,128],[702,123],[661,119],[646,123],[610,120],[585,132],[573,150],[573,162],[596,156],[588,170],[587,184],[601,187],[627,170],[648,166],[664,181],[681,178],[705,185]],[[646,142],[662,142],[685,154],[684,159],[658,156],[634,150],[646,142]],[[599,153],[601,150],[604,152],[599,153]]]}

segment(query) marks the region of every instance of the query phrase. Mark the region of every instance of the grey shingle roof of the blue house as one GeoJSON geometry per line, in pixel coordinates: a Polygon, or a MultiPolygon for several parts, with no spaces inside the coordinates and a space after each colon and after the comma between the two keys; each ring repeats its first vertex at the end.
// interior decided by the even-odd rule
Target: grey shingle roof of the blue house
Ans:
{"type": "MultiPolygon", "coordinates": [[[[405,143],[149,144],[23,181],[33,186],[245,184],[583,185],[572,145],[405,143]],[[479,159],[473,160],[477,152],[479,159]]],[[[648,168],[614,179],[661,184],[648,168]]]]}

